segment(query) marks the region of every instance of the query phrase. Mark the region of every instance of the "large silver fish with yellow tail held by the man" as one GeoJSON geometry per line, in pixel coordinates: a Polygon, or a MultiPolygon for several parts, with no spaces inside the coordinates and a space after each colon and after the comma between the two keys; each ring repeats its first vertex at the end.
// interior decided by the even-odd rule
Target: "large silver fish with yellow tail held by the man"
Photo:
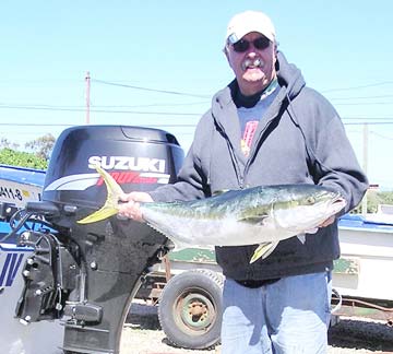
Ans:
{"type": "MultiPolygon", "coordinates": [[[[115,179],[100,167],[108,188],[105,205],[81,220],[97,222],[118,212],[122,192],[115,179]]],[[[190,246],[259,245],[250,262],[266,258],[283,239],[315,233],[330,216],[346,205],[336,191],[314,185],[281,185],[229,190],[211,198],[141,203],[143,219],[163,233],[175,248],[190,246]]]]}

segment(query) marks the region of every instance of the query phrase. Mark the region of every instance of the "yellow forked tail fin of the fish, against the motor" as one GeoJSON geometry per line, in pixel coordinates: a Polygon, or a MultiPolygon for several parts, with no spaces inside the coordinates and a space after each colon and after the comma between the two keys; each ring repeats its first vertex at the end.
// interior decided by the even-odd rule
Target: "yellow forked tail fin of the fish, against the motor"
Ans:
{"type": "Polygon", "coordinates": [[[123,192],[121,187],[118,185],[115,178],[110,176],[105,169],[100,168],[98,165],[95,166],[95,169],[104,179],[108,193],[107,199],[102,209],[78,221],[76,223],[79,224],[96,223],[98,221],[112,216],[118,212],[120,196],[123,192]]]}

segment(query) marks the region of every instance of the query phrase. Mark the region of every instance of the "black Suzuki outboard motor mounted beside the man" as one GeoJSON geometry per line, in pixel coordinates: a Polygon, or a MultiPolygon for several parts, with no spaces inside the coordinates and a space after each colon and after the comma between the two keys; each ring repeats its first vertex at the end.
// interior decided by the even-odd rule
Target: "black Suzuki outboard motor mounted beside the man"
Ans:
{"type": "Polygon", "coordinates": [[[174,182],[182,160],[176,138],[162,130],[64,130],[50,158],[43,200],[26,205],[45,227],[20,237],[22,245],[34,247],[22,272],[25,284],[16,307],[21,321],[61,318],[66,353],[119,353],[131,300],[169,244],[147,225],[116,215],[78,223],[106,201],[106,185],[95,166],[106,169],[126,192],[148,191],[174,182]]]}

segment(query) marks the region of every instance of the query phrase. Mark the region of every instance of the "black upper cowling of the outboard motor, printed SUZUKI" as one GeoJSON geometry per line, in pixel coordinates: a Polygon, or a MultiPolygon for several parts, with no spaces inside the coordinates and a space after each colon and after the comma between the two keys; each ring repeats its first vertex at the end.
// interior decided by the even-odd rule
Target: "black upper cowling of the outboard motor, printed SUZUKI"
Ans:
{"type": "Polygon", "coordinates": [[[43,200],[68,209],[76,206],[79,214],[90,213],[106,199],[96,165],[111,174],[124,191],[148,191],[174,182],[182,160],[183,151],[176,138],[163,130],[123,126],[70,128],[55,145],[43,200]]]}

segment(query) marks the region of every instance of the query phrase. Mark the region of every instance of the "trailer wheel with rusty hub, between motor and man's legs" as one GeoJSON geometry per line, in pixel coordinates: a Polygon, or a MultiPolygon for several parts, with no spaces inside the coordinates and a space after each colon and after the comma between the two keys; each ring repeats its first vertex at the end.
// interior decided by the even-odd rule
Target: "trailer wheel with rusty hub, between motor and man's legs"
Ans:
{"type": "Polygon", "coordinates": [[[209,349],[219,342],[223,316],[223,276],[210,270],[175,275],[165,285],[158,319],[176,346],[209,349]]]}

